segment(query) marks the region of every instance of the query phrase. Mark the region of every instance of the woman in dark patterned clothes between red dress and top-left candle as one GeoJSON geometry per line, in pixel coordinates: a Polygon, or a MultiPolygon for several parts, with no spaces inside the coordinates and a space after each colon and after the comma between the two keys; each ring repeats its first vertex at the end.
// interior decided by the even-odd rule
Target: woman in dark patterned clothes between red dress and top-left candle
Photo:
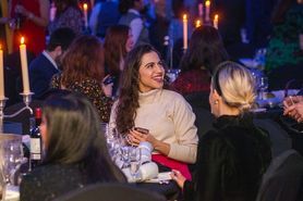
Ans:
{"type": "Polygon", "coordinates": [[[53,0],[53,2],[57,10],[54,20],[48,27],[49,34],[59,27],[69,27],[75,34],[82,34],[84,21],[77,0],[53,0]]]}

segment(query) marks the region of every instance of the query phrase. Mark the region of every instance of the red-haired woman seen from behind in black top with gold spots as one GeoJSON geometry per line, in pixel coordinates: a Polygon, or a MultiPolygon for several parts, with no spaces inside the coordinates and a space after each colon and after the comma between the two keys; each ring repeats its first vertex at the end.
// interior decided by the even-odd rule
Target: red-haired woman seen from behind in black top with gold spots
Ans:
{"type": "Polygon", "coordinates": [[[62,61],[62,73],[52,77],[51,87],[86,96],[96,106],[102,122],[111,110],[111,85],[104,85],[104,49],[95,36],[81,36],[73,41],[62,61]]]}

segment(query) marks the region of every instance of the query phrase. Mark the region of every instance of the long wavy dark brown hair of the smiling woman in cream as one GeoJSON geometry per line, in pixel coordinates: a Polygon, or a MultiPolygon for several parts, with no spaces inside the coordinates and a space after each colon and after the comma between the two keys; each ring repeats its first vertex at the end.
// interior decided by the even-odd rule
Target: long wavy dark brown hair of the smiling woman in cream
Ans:
{"type": "Polygon", "coordinates": [[[136,110],[138,104],[138,68],[142,64],[142,58],[149,52],[158,51],[150,45],[142,45],[129,52],[125,59],[122,73],[122,85],[119,102],[116,110],[116,123],[118,131],[128,133],[134,126],[136,110]]]}

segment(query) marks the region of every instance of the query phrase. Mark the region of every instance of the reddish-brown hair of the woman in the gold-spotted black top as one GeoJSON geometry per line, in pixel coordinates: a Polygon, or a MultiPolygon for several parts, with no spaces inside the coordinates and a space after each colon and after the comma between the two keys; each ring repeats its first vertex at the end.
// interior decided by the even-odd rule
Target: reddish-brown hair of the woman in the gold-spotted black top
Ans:
{"type": "Polygon", "coordinates": [[[69,86],[74,81],[94,78],[101,83],[104,70],[104,48],[95,36],[81,36],[76,38],[62,61],[61,85],[69,86]]]}

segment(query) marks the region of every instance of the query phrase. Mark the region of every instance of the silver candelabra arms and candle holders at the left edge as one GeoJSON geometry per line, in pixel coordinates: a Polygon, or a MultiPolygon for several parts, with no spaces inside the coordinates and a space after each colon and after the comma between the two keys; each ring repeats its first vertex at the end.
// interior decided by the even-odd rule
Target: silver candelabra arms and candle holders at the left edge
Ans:
{"type": "Polygon", "coordinates": [[[33,109],[29,106],[31,102],[32,102],[32,96],[34,95],[34,92],[29,92],[29,93],[20,93],[23,97],[23,102],[24,102],[24,106],[20,110],[17,110],[16,112],[12,113],[12,114],[4,114],[4,106],[5,106],[5,102],[8,100],[7,97],[0,98],[0,134],[3,133],[3,120],[4,118],[12,118],[17,116],[19,114],[21,114],[23,111],[28,110],[31,112],[31,114],[33,114],[33,109]]]}

